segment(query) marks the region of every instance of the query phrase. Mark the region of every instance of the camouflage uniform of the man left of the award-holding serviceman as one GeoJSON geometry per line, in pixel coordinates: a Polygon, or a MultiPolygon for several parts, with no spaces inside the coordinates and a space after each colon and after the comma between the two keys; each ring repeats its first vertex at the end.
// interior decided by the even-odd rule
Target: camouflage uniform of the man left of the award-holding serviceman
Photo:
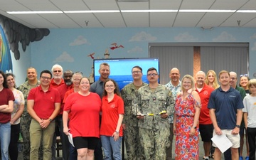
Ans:
{"type": "MultiPolygon", "coordinates": [[[[142,83],[142,86],[147,85],[142,83]]],[[[121,90],[121,95],[124,100],[124,142],[127,150],[127,159],[143,160],[144,151],[139,143],[139,128],[137,117],[132,112],[132,100],[135,98],[137,88],[133,83],[129,83],[121,90]]]]}

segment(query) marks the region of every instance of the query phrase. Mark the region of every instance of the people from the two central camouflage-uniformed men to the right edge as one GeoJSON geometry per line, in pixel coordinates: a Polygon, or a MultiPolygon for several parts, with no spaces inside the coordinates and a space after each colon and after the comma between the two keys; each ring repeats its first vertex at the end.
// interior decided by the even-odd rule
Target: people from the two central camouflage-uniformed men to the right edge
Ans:
{"type": "Polygon", "coordinates": [[[146,76],[148,85],[141,80],[142,68],[135,66],[134,82],[121,91],[127,159],[171,159],[174,135],[175,159],[199,159],[199,133],[205,160],[221,159],[220,149],[211,140],[221,134],[232,143],[225,151],[226,160],[243,159],[244,135],[249,139],[245,159],[255,159],[256,121],[252,116],[256,104],[255,79],[241,75],[241,87],[238,87],[236,73],[222,70],[216,75],[214,70],[209,70],[207,74],[198,71],[195,80],[191,75],[184,75],[180,81],[178,68],[172,68],[171,80],[164,87],[158,84],[156,69],[149,68],[146,76]]]}

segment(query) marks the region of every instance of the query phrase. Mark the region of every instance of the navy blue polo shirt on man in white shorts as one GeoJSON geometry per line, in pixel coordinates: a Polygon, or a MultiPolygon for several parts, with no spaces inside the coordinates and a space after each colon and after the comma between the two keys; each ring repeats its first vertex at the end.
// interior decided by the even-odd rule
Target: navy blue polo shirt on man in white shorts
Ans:
{"type": "Polygon", "coordinates": [[[230,87],[227,92],[218,87],[210,94],[208,109],[215,109],[215,116],[220,129],[234,129],[237,110],[242,108],[240,92],[233,87],[230,87]]]}

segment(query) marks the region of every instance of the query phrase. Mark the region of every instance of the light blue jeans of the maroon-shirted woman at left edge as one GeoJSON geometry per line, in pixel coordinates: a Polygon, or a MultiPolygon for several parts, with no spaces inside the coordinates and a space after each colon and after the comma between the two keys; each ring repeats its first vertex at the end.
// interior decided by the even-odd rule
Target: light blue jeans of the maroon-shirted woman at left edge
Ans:
{"type": "Polygon", "coordinates": [[[9,160],[9,144],[11,139],[11,124],[0,123],[1,159],[9,160]]]}

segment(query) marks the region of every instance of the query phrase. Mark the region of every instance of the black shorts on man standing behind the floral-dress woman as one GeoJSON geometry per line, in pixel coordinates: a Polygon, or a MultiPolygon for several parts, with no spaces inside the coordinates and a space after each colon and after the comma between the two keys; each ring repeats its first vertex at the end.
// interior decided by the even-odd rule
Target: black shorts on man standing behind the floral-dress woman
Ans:
{"type": "Polygon", "coordinates": [[[213,124],[199,124],[199,132],[203,142],[211,142],[211,138],[213,138],[213,124]]]}

